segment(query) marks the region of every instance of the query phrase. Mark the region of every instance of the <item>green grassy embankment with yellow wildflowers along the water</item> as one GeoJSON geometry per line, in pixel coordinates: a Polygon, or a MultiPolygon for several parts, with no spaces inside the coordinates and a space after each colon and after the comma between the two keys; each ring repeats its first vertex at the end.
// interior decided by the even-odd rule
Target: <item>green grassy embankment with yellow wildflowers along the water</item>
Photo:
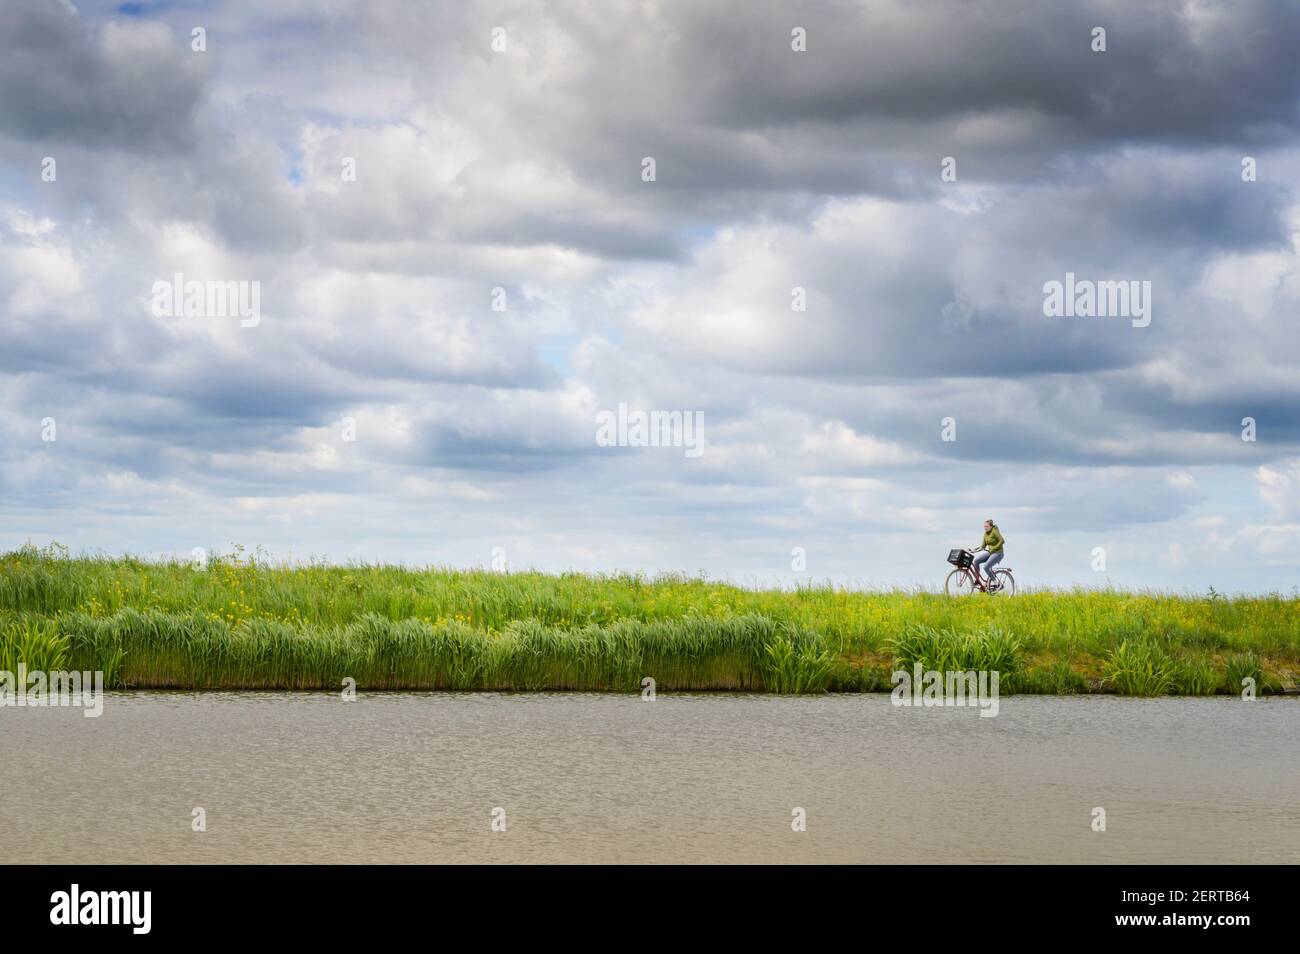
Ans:
{"type": "Polygon", "coordinates": [[[0,669],[121,688],[859,691],[898,665],[1000,669],[1004,691],[1291,688],[1300,599],[1119,591],[746,590],[699,578],[398,567],[205,568],[0,555],[0,669]]]}

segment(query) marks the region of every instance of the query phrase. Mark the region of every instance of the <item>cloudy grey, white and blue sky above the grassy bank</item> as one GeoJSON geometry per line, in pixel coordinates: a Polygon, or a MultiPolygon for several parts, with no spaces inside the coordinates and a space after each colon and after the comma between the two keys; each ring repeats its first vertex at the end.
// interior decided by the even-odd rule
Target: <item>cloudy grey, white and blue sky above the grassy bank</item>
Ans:
{"type": "Polygon", "coordinates": [[[1022,585],[1290,591],[1297,49],[1291,0],[4,0],[0,547],[937,586],[992,516],[1022,585]],[[1149,326],[1044,316],[1067,272],[1149,326]]]}

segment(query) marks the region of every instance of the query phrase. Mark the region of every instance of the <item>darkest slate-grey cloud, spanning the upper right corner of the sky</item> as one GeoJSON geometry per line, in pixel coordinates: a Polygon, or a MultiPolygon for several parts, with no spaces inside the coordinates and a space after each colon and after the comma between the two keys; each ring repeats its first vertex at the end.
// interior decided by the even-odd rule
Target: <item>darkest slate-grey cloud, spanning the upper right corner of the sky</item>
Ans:
{"type": "Polygon", "coordinates": [[[720,125],[926,125],[1024,110],[1060,147],[1260,142],[1297,118],[1300,10],[1284,0],[759,3],[746,14],[699,4],[668,14],[680,42],[658,75],[720,125]],[[790,56],[794,25],[809,32],[806,56],[790,56]],[[1091,45],[1098,26],[1104,53],[1091,45]]]}

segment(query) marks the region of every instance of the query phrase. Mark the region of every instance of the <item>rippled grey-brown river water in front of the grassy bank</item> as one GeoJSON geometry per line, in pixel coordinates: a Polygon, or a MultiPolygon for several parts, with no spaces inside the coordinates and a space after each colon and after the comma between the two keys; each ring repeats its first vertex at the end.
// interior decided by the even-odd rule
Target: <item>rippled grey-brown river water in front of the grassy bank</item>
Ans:
{"type": "Polygon", "coordinates": [[[117,693],[99,719],[0,710],[0,844],[62,863],[1294,862],[1297,756],[1290,698],[1004,697],[980,717],[884,694],[117,693]]]}

